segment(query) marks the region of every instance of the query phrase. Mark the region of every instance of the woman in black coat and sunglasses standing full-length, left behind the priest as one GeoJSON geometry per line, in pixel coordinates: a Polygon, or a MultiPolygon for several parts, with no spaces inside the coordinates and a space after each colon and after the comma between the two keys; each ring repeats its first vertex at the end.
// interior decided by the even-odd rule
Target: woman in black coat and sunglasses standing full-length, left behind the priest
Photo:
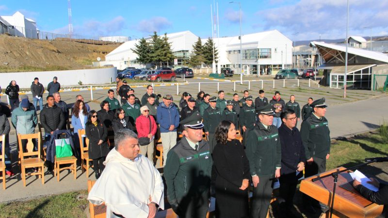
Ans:
{"type": "Polygon", "coordinates": [[[93,168],[98,179],[105,166],[102,162],[109,153],[107,141],[108,131],[97,118],[96,110],[88,113],[88,122],[85,125],[86,137],[89,139],[89,158],[93,159],[93,168]]]}

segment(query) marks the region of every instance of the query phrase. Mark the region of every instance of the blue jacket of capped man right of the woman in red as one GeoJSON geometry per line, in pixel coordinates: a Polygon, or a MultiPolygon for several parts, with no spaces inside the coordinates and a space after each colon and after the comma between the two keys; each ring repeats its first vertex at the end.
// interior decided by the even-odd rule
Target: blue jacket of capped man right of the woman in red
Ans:
{"type": "Polygon", "coordinates": [[[160,103],[156,109],[156,118],[161,126],[161,133],[170,132],[170,130],[168,130],[170,125],[175,126],[172,132],[177,131],[179,125],[179,113],[173,103],[171,103],[169,107],[167,107],[163,102],[160,103]]]}

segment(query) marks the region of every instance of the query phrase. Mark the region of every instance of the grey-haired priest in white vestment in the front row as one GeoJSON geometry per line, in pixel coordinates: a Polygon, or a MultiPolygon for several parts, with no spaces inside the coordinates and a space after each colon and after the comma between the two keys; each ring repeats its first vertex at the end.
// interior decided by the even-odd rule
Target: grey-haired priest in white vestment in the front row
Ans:
{"type": "Polygon", "coordinates": [[[129,129],[114,134],[115,148],[104,162],[105,170],[88,200],[105,203],[107,218],[154,218],[164,209],[163,181],[159,171],[139,154],[137,135],[129,129]]]}

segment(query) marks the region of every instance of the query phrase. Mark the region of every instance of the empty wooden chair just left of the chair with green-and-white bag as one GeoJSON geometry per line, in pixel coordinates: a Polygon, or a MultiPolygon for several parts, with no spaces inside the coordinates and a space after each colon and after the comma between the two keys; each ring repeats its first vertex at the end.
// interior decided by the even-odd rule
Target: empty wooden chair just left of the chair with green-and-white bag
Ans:
{"type": "Polygon", "coordinates": [[[21,177],[23,180],[23,186],[26,187],[26,175],[39,175],[39,178],[42,177],[42,184],[45,184],[45,171],[44,171],[44,164],[45,162],[41,158],[41,135],[40,133],[34,133],[34,134],[25,134],[17,135],[17,139],[19,142],[19,154],[20,154],[20,165],[21,165],[21,177]],[[32,140],[37,139],[37,148],[38,151],[33,151],[33,143],[32,140]],[[26,151],[23,152],[23,146],[21,144],[21,140],[28,140],[26,151]],[[29,157],[29,156],[37,156],[37,157],[29,157]],[[25,158],[29,157],[29,158],[25,158]],[[31,172],[26,173],[26,168],[40,168],[38,172],[31,172]]]}

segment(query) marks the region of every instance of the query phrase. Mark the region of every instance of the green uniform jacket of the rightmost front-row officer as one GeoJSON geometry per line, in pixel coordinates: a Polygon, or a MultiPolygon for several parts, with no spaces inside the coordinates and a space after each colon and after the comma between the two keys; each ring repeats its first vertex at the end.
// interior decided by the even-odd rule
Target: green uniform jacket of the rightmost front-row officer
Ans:
{"type": "Polygon", "coordinates": [[[318,119],[311,114],[302,122],[300,134],[307,160],[311,157],[326,158],[330,154],[330,130],[325,117],[318,119]]]}

